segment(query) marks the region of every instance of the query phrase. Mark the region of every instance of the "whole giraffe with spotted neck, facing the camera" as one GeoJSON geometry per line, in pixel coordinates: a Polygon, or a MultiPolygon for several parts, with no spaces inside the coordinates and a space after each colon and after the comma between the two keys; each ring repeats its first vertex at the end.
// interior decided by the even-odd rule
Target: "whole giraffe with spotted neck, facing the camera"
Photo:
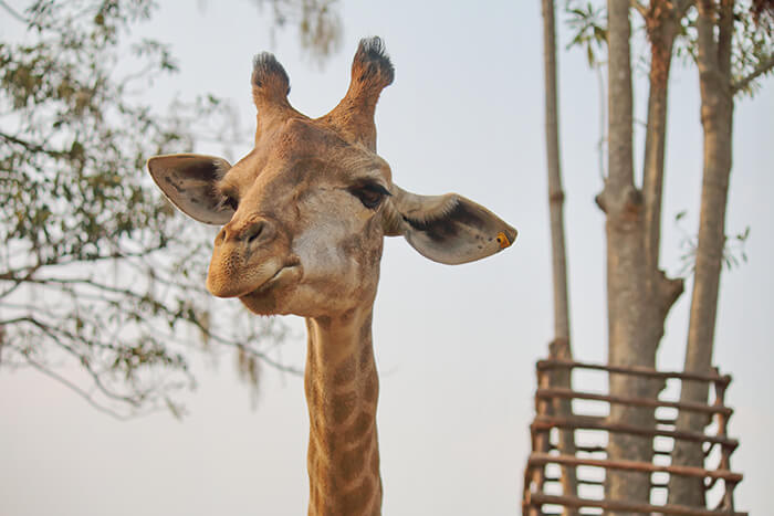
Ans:
{"type": "Polygon", "coordinates": [[[208,291],[255,314],[306,320],[310,515],[381,513],[372,318],[384,236],[401,235],[446,264],[492,255],[516,238],[471,200],[418,196],[393,182],[376,154],[374,112],[394,73],[381,40],[362,40],[346,95],[310,118],[291,107],[282,65],[261,53],[251,77],[255,145],[247,156],[233,166],[191,154],[148,160],[172,204],[222,225],[208,291]]]}

